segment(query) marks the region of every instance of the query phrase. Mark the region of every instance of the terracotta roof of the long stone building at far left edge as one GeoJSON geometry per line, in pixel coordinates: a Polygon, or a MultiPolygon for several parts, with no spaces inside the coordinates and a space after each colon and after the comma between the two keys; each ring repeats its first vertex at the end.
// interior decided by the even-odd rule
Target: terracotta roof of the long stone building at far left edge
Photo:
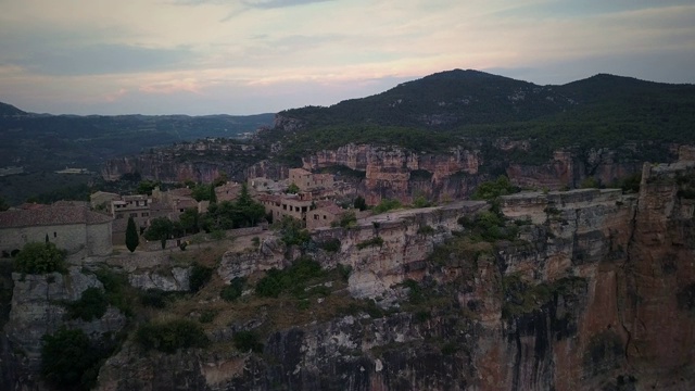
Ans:
{"type": "Polygon", "coordinates": [[[101,224],[111,220],[111,216],[83,206],[46,206],[36,210],[0,212],[0,228],[101,224]]]}

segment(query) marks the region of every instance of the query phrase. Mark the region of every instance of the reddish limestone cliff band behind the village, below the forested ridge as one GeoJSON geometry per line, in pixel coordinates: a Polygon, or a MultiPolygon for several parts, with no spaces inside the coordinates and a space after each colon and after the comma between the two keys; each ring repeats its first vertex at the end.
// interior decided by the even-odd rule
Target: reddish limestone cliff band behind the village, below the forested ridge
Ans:
{"type": "Polygon", "coordinates": [[[395,147],[348,144],[304,157],[303,167],[315,171],[345,166],[364,172],[358,190],[368,203],[377,204],[383,198],[410,203],[418,195],[439,201],[465,199],[492,172],[505,173],[522,188],[573,189],[587,177],[610,185],[639,173],[643,161],[629,157],[637,153],[636,146],[619,150],[559,150],[541,164],[522,164],[510,157],[515,151],[528,153],[528,141],[501,139],[484,152],[483,149],[482,144],[473,149],[456,147],[446,153],[432,154],[395,147]]]}

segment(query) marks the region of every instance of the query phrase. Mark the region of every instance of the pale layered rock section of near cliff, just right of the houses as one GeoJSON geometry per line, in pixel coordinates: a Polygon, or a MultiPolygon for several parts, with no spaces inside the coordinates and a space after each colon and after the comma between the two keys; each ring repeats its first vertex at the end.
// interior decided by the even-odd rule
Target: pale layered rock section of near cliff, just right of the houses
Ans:
{"type": "Polygon", "coordinates": [[[321,260],[352,268],[349,289],[355,298],[381,298],[382,305],[396,298],[392,286],[408,278],[420,280],[428,254],[451,238],[458,218],[485,209],[482,201],[460,201],[439,207],[401,210],[371,216],[351,229],[326,228],[315,232],[318,242],[338,239],[337,254],[321,260]]]}

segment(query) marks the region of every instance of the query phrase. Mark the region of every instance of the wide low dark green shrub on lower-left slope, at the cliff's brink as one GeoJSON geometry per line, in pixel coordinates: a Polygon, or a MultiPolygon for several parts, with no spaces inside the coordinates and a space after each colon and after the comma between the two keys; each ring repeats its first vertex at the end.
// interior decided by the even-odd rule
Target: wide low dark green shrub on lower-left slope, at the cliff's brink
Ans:
{"type": "Polygon", "coordinates": [[[135,338],[146,351],[154,349],[164,353],[174,353],[178,349],[206,348],[210,344],[201,326],[187,319],[143,324],[135,338]]]}

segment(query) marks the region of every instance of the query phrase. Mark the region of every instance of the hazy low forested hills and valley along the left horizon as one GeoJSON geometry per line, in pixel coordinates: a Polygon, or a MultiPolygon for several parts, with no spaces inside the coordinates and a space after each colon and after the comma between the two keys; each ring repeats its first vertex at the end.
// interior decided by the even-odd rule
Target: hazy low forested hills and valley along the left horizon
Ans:
{"type": "Polygon", "coordinates": [[[274,116],[47,115],[0,103],[0,167],[99,171],[104,159],[205,137],[236,138],[271,126],[274,116]]]}

